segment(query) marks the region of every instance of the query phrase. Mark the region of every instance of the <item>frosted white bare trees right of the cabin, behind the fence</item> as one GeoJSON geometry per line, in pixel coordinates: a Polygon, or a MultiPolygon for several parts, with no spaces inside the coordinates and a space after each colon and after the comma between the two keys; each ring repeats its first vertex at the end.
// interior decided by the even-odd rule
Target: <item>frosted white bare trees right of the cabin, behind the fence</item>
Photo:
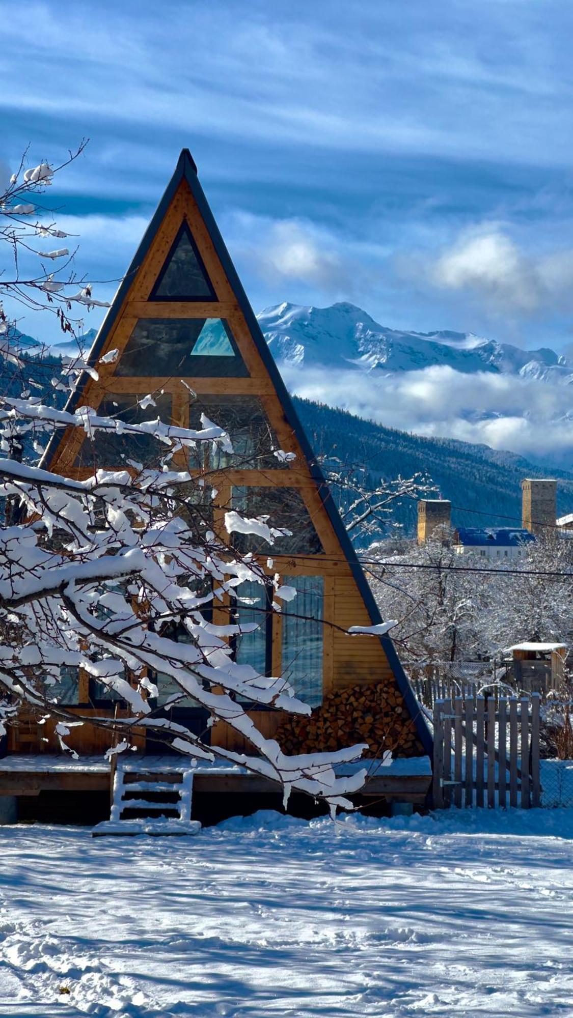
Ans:
{"type": "Polygon", "coordinates": [[[519,557],[482,559],[457,555],[451,540],[436,530],[405,554],[388,558],[373,546],[366,556],[380,612],[392,606],[393,637],[409,661],[482,661],[523,640],[571,638],[573,541],[548,528],[519,557]]]}

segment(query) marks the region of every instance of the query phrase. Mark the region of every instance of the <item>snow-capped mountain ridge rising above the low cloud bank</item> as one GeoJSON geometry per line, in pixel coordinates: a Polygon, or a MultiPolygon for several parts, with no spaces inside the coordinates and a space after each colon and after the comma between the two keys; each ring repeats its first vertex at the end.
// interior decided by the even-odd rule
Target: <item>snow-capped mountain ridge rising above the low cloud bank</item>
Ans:
{"type": "Polygon", "coordinates": [[[304,307],[281,303],[257,316],[275,359],[295,365],[355,365],[412,372],[432,365],[573,382],[573,362],[554,350],[523,350],[467,332],[403,332],[379,325],[354,304],[304,307]]]}

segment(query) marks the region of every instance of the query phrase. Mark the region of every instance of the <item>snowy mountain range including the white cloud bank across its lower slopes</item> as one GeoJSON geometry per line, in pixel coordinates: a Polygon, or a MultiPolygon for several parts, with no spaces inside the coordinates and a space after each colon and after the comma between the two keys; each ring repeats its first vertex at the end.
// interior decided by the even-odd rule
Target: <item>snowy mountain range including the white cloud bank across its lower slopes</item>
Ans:
{"type": "Polygon", "coordinates": [[[573,359],[467,332],[407,332],[354,304],[258,316],[291,392],[416,435],[573,467],[573,359]]]}

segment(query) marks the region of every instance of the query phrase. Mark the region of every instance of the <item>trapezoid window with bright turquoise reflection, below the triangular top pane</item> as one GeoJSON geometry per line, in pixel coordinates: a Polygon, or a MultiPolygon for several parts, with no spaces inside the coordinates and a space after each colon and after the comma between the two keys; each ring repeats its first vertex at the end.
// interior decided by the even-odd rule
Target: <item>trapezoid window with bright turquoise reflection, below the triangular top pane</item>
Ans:
{"type": "Polygon", "coordinates": [[[115,374],[129,378],[247,378],[223,319],[140,319],[115,374]]]}

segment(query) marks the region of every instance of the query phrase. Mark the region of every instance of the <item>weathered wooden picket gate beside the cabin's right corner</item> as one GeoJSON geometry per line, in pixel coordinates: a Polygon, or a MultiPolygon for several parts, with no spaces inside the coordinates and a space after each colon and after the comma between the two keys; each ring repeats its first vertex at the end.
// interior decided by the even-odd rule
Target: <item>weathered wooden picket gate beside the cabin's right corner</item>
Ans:
{"type": "Polygon", "coordinates": [[[436,700],[433,805],[540,804],[538,693],[436,700]]]}

